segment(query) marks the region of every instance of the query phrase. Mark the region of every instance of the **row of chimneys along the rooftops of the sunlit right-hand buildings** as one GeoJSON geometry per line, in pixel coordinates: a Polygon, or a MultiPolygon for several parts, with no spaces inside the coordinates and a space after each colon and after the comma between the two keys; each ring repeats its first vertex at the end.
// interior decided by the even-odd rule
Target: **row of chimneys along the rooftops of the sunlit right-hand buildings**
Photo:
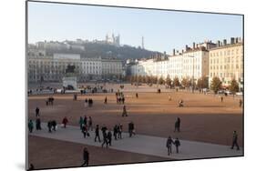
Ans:
{"type": "MultiPolygon", "coordinates": [[[[240,42],[241,42],[241,37],[231,37],[230,38],[230,45],[238,44],[240,42]]],[[[206,45],[207,45],[206,49],[210,49],[211,48],[211,45],[209,45],[209,44],[212,44],[211,41],[206,43],[206,45]]],[[[212,45],[214,45],[214,44],[212,44],[212,45]]],[[[227,45],[227,39],[223,39],[223,42],[220,42],[220,40],[218,40],[217,44],[215,44],[214,46],[220,47],[222,45],[227,45]]],[[[196,43],[193,42],[193,48],[192,49],[194,50],[194,49],[196,49],[198,47],[199,47],[199,45],[198,44],[196,45],[196,43]]],[[[185,46],[185,52],[189,51],[189,49],[191,49],[189,47],[189,45],[186,45],[185,46]]],[[[183,52],[184,52],[184,50],[182,49],[182,54],[183,54],[183,52]]],[[[173,49],[172,55],[176,55],[176,53],[179,55],[179,51],[176,51],[176,49],[173,49]]]]}

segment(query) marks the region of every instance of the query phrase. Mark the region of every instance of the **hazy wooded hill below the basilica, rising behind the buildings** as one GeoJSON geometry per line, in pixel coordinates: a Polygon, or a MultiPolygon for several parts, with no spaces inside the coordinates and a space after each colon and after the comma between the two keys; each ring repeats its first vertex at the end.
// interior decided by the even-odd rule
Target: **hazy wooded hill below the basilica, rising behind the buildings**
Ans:
{"type": "MultiPolygon", "coordinates": [[[[85,43],[85,50],[75,50],[75,49],[66,49],[66,50],[55,50],[55,49],[46,49],[47,54],[52,53],[78,53],[81,54],[82,57],[97,57],[101,56],[103,58],[107,57],[117,57],[118,59],[141,59],[146,58],[151,55],[155,55],[155,51],[149,51],[142,48],[137,48],[129,45],[109,45],[109,44],[99,44],[99,43],[85,43]]],[[[161,53],[159,53],[161,54],[161,53]]]]}

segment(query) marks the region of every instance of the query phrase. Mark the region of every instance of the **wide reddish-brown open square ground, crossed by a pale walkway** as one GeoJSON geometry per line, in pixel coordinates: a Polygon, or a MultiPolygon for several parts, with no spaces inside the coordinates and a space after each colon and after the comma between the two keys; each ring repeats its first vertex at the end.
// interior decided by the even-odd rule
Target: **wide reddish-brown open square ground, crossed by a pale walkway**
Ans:
{"type": "Polygon", "coordinates": [[[43,128],[28,136],[29,163],[33,163],[36,168],[81,166],[84,146],[87,146],[91,156],[89,166],[217,157],[218,151],[211,156],[214,149],[220,149],[220,156],[242,156],[243,113],[242,107],[239,106],[241,96],[223,96],[221,102],[219,95],[202,94],[198,91],[177,92],[160,85],[130,84],[124,84],[124,88],[120,89],[119,85],[105,85],[106,89],[113,88],[113,93],[77,94],[77,100],[73,100],[74,94],[53,95],[53,106],[46,106],[48,95],[28,96],[29,119],[36,120],[35,109],[38,106],[42,123],[56,120],[58,124],[53,134],[47,133],[47,129],[43,128]],[[157,88],[161,89],[161,93],[157,93],[157,88]],[[127,117],[121,116],[124,105],[117,104],[115,93],[118,89],[125,96],[127,117]],[[104,104],[106,96],[108,103],[104,104]],[[86,98],[93,99],[93,106],[87,106],[86,98]],[[184,101],[184,107],[179,107],[180,99],[184,101]],[[113,140],[113,146],[108,149],[101,148],[99,143],[92,141],[94,132],[91,132],[90,137],[83,139],[81,131],[77,128],[79,117],[85,115],[92,117],[94,128],[96,125],[105,125],[113,130],[115,125],[122,124],[125,133],[128,133],[128,123],[132,121],[135,124],[136,136],[113,140]],[[69,121],[66,129],[60,126],[65,116],[69,121]],[[178,117],[181,120],[180,132],[174,132],[178,117]],[[230,149],[234,130],[238,133],[240,151],[230,149]],[[68,134],[73,135],[72,138],[68,134]],[[179,137],[179,154],[167,155],[165,141],[168,136],[179,137]],[[159,144],[143,142],[147,138],[148,141],[156,141],[159,144]],[[139,146],[133,145],[134,142],[138,142],[139,146]],[[144,151],[141,149],[144,147],[143,143],[144,151]],[[147,146],[159,146],[160,150],[152,151],[147,149],[147,146]],[[189,146],[195,146],[199,151],[189,150],[189,146]],[[204,149],[207,146],[212,149],[204,149]],[[160,152],[161,150],[164,151],[160,152]]]}

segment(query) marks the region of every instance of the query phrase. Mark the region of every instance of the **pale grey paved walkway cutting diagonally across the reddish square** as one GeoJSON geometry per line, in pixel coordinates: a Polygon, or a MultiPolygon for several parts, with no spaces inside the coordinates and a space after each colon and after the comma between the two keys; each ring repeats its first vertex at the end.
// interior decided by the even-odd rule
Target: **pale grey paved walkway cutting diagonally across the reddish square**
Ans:
{"type": "MultiPolygon", "coordinates": [[[[56,132],[53,131],[52,134],[47,132],[46,123],[42,124],[42,128],[43,130],[34,130],[34,132],[29,135],[53,138],[56,140],[85,144],[89,146],[101,146],[101,143],[94,142],[94,131],[90,131],[90,136],[84,138],[78,126],[67,126],[67,128],[58,126],[56,132]]],[[[114,140],[114,138],[112,138],[112,146],[110,146],[110,148],[143,155],[170,157],[173,159],[243,155],[242,148],[241,150],[237,151],[231,150],[230,146],[220,146],[210,143],[179,140],[181,144],[181,146],[179,146],[179,154],[176,154],[175,146],[172,146],[173,153],[168,156],[166,138],[144,135],[128,137],[128,133],[123,133],[122,136],[123,139],[114,140]]],[[[100,137],[102,140],[102,135],[100,135],[100,137]]]]}

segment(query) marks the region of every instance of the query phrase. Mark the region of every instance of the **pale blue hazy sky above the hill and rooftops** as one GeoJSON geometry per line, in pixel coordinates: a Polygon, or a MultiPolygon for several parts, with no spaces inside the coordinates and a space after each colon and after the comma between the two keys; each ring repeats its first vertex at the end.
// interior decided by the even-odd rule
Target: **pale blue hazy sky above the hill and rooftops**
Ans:
{"type": "Polygon", "coordinates": [[[144,36],[145,48],[169,54],[193,42],[242,36],[242,16],[28,2],[28,43],[103,40],[112,33],[121,45],[141,45],[144,36]]]}

